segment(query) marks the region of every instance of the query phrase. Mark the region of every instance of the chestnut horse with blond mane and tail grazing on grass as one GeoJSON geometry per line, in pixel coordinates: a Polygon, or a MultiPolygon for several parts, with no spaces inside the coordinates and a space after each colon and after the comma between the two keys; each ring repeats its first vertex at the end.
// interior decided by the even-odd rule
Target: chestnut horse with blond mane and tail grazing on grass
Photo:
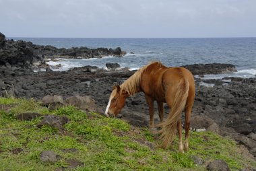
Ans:
{"type": "Polygon", "coordinates": [[[127,97],[143,92],[150,111],[150,127],[154,127],[154,100],[158,104],[160,117],[159,139],[166,148],[172,143],[177,129],[179,134],[179,151],[189,149],[189,125],[191,110],[195,98],[195,81],[192,73],[183,67],[165,67],[153,62],[136,71],[121,86],[115,86],[110,94],[105,115],[117,116],[125,106],[127,97]],[[163,122],[163,103],[167,103],[170,112],[163,122]],[[185,109],[185,145],[182,143],[181,112],[185,109]]]}

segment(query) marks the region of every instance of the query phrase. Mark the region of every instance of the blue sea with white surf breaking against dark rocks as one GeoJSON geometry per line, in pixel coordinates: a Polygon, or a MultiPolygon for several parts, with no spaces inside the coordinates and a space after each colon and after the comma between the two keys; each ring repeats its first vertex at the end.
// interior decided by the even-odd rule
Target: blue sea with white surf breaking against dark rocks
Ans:
{"type": "Polygon", "coordinates": [[[87,46],[88,48],[117,48],[127,52],[124,57],[102,59],[68,59],[59,69],[94,65],[106,68],[106,63],[119,63],[121,67],[138,69],[150,61],[160,61],[167,66],[181,66],[199,63],[229,63],[238,72],[225,75],[207,75],[208,78],[226,76],[255,77],[256,38],[12,38],[34,44],[52,45],[57,48],[87,46]],[[134,53],[134,54],[133,54],[134,53]]]}

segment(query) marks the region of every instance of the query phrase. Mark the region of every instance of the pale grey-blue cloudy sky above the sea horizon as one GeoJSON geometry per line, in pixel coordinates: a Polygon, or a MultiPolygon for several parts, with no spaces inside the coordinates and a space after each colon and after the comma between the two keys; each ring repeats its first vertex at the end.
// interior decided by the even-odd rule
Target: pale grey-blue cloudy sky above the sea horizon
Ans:
{"type": "Polygon", "coordinates": [[[0,0],[7,37],[256,37],[256,0],[0,0]]]}

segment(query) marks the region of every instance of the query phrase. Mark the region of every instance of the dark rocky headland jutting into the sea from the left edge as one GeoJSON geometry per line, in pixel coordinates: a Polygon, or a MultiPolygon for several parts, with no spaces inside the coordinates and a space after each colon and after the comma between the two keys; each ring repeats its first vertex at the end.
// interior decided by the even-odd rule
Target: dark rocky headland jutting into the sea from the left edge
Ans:
{"type": "Polygon", "coordinates": [[[0,33],[0,66],[31,67],[40,65],[45,57],[66,57],[72,59],[102,58],[106,56],[122,57],[126,53],[120,47],[115,48],[56,48],[54,46],[36,45],[22,40],[5,40],[0,33]]]}

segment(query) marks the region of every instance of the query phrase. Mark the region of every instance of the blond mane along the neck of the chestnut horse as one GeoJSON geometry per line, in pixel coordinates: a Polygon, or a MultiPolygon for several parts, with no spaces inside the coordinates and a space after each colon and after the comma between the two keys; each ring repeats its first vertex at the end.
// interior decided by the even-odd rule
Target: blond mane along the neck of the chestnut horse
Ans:
{"type": "Polygon", "coordinates": [[[132,96],[133,94],[139,92],[139,83],[141,80],[141,73],[148,68],[149,65],[152,65],[153,63],[158,63],[158,65],[162,65],[160,62],[151,62],[148,65],[145,65],[144,67],[141,67],[139,70],[137,70],[131,77],[129,77],[125,82],[121,84],[121,90],[125,90],[129,96],[132,96]]]}

